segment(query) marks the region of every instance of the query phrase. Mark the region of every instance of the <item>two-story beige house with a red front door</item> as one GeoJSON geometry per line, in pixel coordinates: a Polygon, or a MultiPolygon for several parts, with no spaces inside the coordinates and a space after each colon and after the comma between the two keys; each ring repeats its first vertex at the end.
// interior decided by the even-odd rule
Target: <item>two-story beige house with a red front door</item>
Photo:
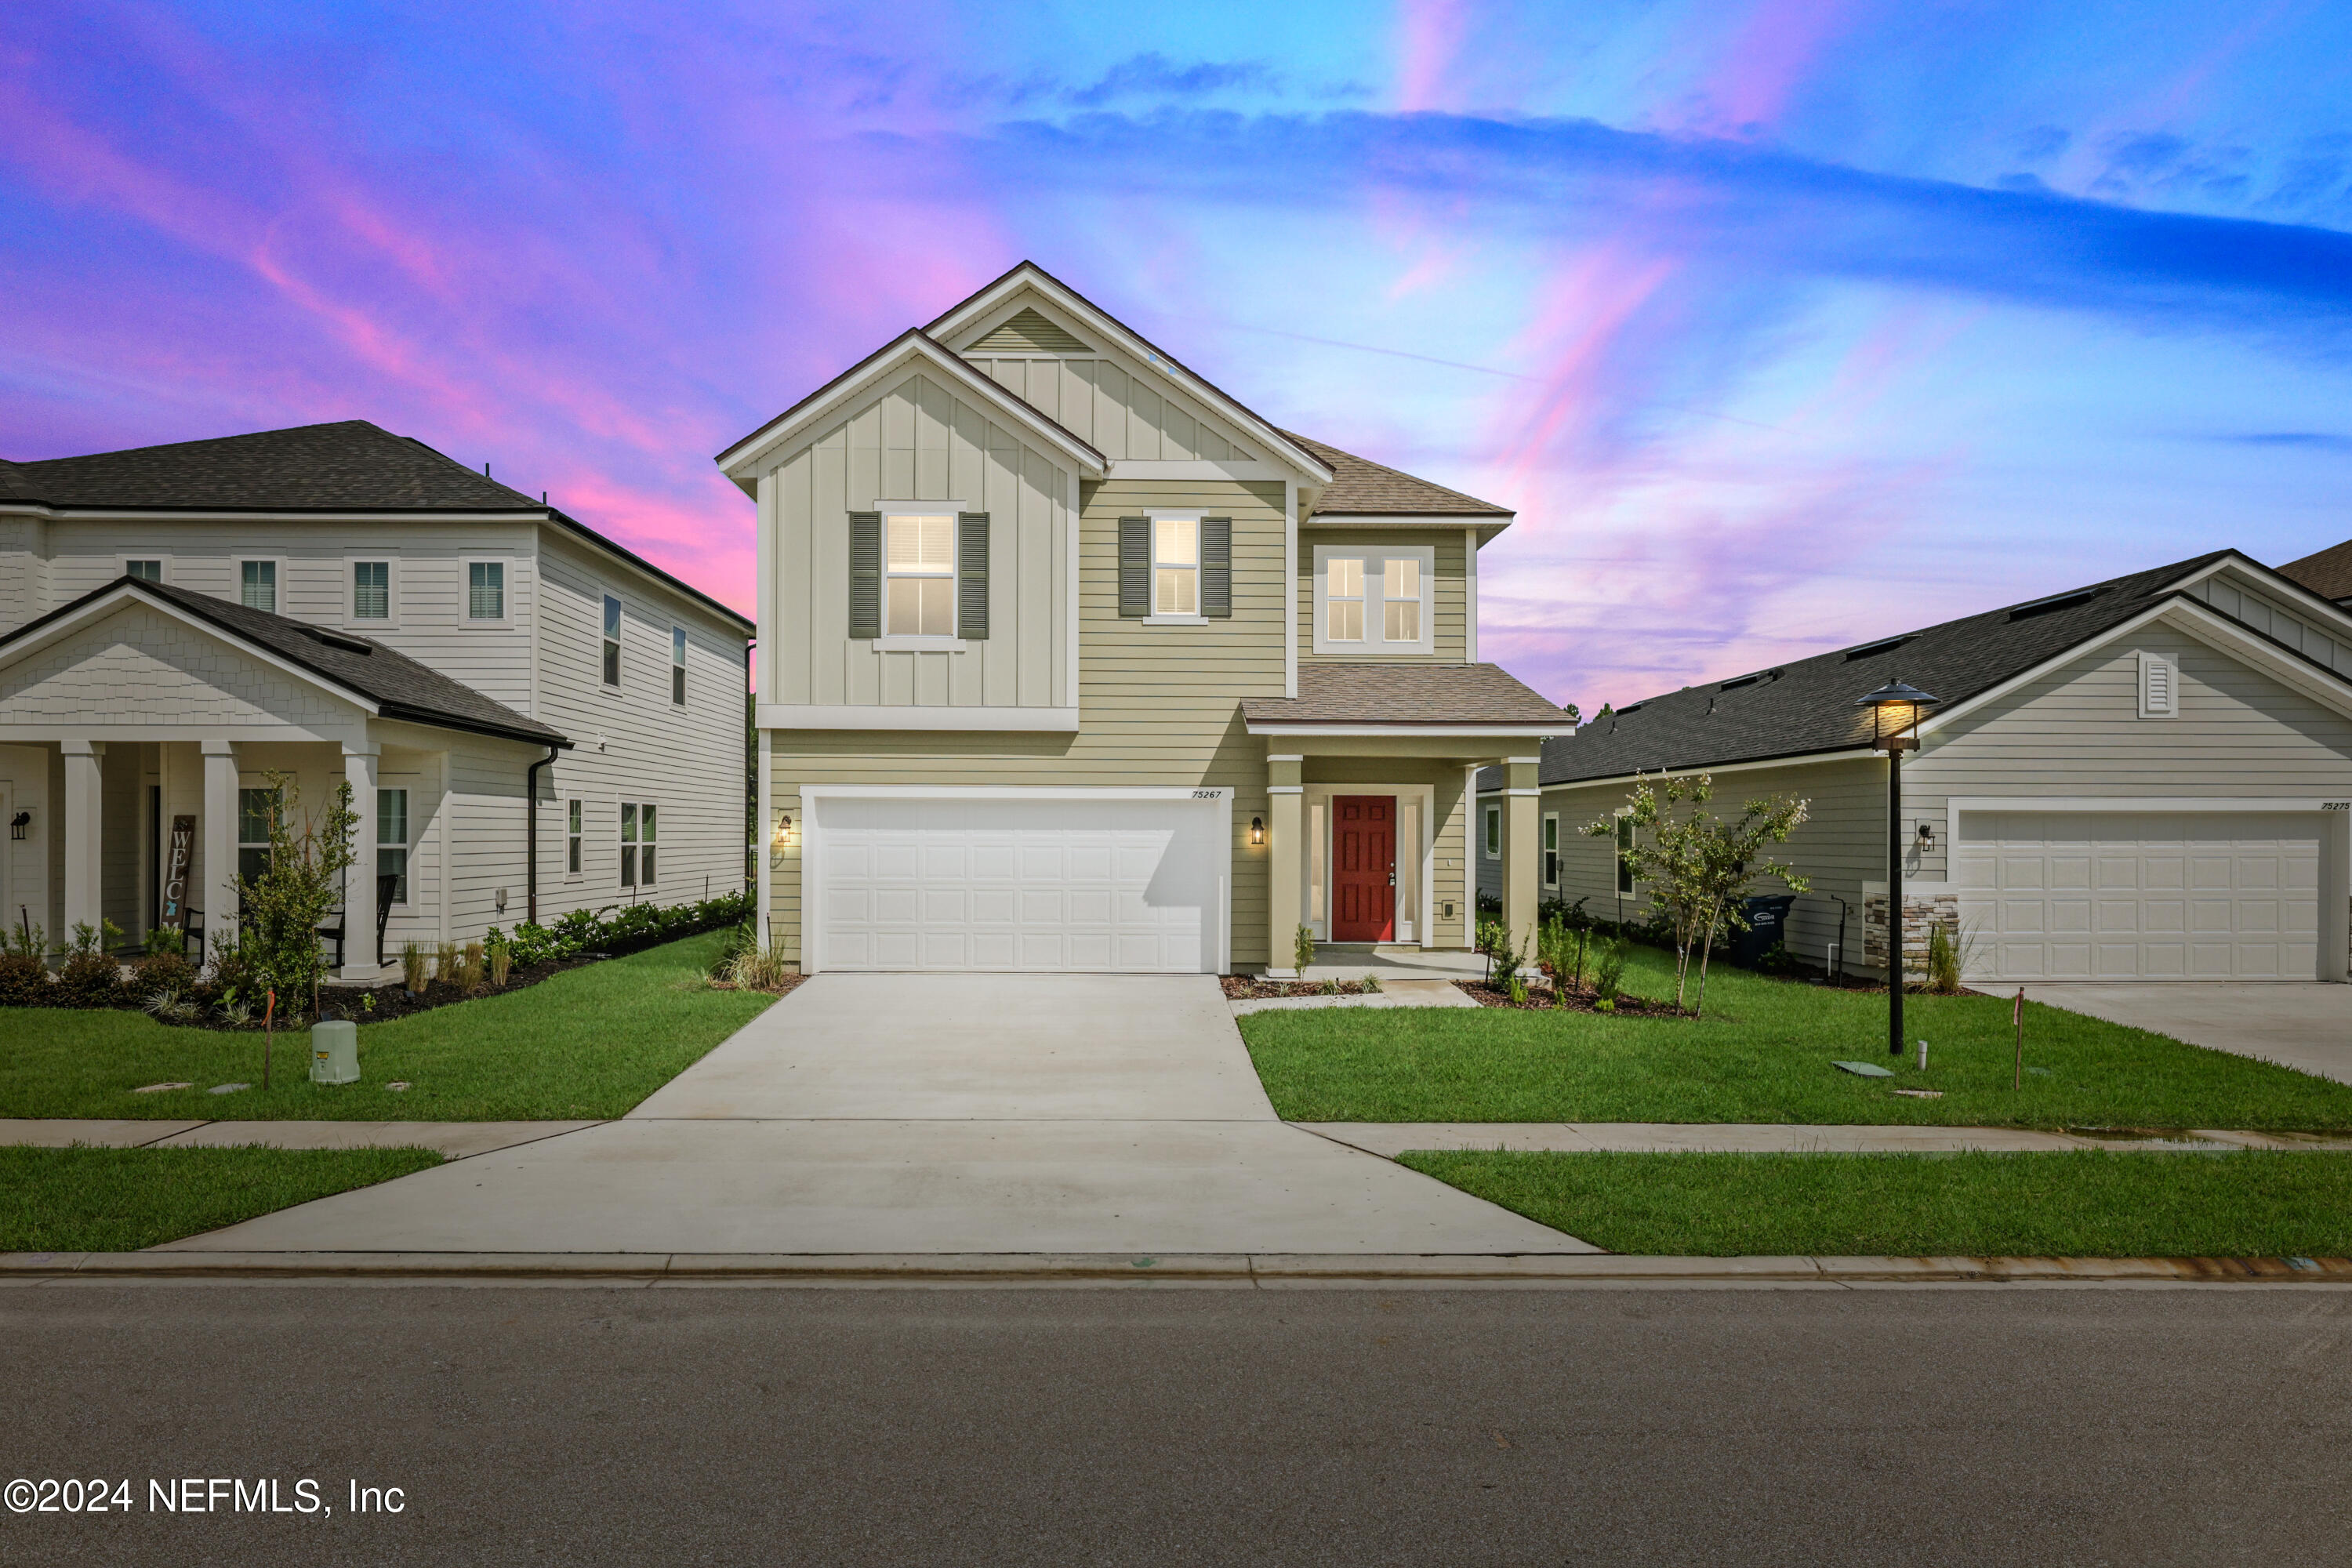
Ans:
{"type": "Polygon", "coordinates": [[[1510,512],[1277,430],[1035,266],[720,454],[760,503],[760,912],[804,969],[1461,947],[1510,512]]]}

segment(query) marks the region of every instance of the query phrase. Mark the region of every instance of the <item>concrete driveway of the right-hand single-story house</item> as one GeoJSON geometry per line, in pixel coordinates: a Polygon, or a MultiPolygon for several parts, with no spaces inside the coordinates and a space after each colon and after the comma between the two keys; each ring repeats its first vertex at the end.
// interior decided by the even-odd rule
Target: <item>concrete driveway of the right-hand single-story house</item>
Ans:
{"type": "MultiPolygon", "coordinates": [[[[2016,987],[1980,987],[2016,994],[2016,987]]],[[[2152,1030],[2192,1046],[2251,1056],[2352,1084],[2352,985],[2171,980],[2147,985],[2027,985],[2030,1001],[2152,1030]]]]}

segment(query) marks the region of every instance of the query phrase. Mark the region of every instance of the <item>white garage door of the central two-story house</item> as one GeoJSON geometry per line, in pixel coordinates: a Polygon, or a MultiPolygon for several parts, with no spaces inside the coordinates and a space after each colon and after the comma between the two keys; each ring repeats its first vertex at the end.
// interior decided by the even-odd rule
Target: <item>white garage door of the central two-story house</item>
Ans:
{"type": "Polygon", "coordinates": [[[818,969],[1200,973],[1221,959],[1214,799],[818,799],[818,969]]]}

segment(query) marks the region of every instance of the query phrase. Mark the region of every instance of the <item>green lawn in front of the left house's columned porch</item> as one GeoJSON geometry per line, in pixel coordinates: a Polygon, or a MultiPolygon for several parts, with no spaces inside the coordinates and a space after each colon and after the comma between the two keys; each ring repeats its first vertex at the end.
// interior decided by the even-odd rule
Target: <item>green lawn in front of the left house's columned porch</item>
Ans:
{"type": "Polygon", "coordinates": [[[308,1032],[174,1030],[146,1013],[0,1009],[0,1117],[536,1121],[619,1117],[774,997],[710,990],[724,933],[588,964],[503,997],[360,1025],[360,1081],[310,1084],[308,1032]],[[193,1088],[132,1093],[141,1084],[193,1088]],[[407,1081],[407,1091],[386,1084],[407,1081]],[[205,1093],[214,1084],[254,1084],[205,1093]]]}

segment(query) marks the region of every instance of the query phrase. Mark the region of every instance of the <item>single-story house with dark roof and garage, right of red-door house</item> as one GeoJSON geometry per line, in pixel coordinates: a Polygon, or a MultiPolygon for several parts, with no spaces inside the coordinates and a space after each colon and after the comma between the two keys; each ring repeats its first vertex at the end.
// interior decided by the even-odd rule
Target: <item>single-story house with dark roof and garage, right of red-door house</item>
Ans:
{"type": "Polygon", "coordinates": [[[1884,973],[1886,759],[1856,698],[1889,679],[1943,698],[1903,764],[1912,966],[1940,919],[1983,980],[2345,978],[2352,616],[2230,550],[1595,717],[1543,748],[1545,898],[1639,917],[1583,830],[1637,773],[1708,771],[1719,813],[1811,802],[1788,945],[1884,973]]]}

